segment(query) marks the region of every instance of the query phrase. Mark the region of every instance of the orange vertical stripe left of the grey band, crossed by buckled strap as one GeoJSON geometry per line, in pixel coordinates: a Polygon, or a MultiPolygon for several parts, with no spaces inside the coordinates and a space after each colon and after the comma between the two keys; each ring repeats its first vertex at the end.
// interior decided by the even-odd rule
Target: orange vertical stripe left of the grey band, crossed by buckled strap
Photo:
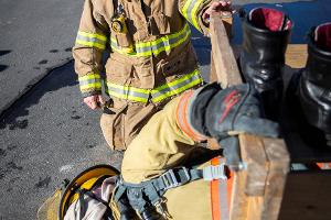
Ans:
{"type": "MultiPolygon", "coordinates": [[[[213,166],[220,164],[220,158],[214,157],[211,161],[213,166]]],[[[213,220],[221,220],[221,202],[220,202],[220,193],[218,193],[218,179],[214,179],[211,182],[211,198],[212,198],[212,217],[213,220]]]]}

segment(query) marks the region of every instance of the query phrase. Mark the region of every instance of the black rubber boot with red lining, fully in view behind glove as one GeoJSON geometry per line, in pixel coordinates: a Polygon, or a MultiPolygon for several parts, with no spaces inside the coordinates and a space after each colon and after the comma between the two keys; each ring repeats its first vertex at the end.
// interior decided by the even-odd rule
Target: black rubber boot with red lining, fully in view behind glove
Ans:
{"type": "Polygon", "coordinates": [[[242,74],[261,95],[267,118],[276,120],[282,96],[285,52],[291,21],[282,12],[256,8],[241,12],[243,50],[239,57],[242,74]]]}

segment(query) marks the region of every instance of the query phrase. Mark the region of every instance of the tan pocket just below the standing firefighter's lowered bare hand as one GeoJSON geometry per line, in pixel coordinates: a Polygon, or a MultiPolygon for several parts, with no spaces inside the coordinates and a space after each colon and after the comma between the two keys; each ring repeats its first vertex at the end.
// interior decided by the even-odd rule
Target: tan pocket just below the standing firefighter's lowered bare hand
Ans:
{"type": "Polygon", "coordinates": [[[126,150],[124,129],[126,107],[127,105],[119,109],[109,108],[104,111],[100,118],[100,127],[104,138],[113,150],[126,150]]]}

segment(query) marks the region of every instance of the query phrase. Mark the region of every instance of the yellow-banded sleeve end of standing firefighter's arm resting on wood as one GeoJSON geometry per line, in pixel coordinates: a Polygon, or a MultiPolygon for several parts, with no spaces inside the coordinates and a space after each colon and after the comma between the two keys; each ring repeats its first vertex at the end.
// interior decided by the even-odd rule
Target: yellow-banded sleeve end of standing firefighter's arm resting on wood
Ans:
{"type": "Polygon", "coordinates": [[[202,21],[202,14],[210,7],[212,1],[213,0],[179,0],[181,14],[205,35],[209,33],[209,28],[202,21]]]}

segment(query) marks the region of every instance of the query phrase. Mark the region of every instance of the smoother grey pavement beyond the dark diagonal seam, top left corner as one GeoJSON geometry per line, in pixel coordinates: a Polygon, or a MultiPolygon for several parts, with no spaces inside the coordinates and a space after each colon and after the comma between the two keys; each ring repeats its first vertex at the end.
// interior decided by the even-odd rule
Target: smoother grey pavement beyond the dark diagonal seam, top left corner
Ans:
{"type": "Polygon", "coordinates": [[[83,1],[0,0],[0,113],[71,58],[83,1]]]}

